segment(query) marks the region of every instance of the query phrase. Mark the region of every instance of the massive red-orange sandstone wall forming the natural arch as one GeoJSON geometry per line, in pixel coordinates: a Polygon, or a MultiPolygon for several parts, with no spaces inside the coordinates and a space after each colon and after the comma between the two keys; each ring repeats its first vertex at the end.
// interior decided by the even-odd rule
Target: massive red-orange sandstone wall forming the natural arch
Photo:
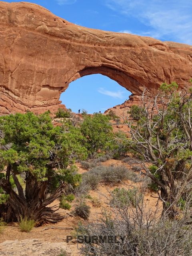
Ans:
{"type": "Polygon", "coordinates": [[[103,74],[139,96],[192,76],[192,46],[74,25],[36,4],[0,2],[0,114],[55,111],[69,83],[103,74]]]}

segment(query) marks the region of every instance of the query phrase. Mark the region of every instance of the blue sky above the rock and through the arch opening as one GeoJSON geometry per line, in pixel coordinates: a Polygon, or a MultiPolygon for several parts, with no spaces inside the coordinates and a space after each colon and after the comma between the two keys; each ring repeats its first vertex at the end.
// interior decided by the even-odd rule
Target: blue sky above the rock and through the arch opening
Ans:
{"type": "MultiPolygon", "coordinates": [[[[20,2],[5,1],[5,2],[20,2]]],[[[30,0],[75,24],[163,41],[192,44],[192,0],[30,0]]],[[[102,75],[72,82],[61,100],[77,112],[96,112],[124,102],[129,92],[102,75]]]]}

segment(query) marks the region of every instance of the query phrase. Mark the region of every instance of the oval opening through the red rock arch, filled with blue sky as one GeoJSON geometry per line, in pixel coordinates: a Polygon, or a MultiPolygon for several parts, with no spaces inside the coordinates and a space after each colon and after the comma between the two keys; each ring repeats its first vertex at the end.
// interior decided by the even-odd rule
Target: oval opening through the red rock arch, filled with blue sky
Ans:
{"type": "Polygon", "coordinates": [[[128,100],[131,92],[109,76],[100,72],[93,74],[91,69],[78,73],[68,84],[68,88],[61,93],[60,101],[73,112],[85,109],[88,114],[101,111],[128,100]]]}

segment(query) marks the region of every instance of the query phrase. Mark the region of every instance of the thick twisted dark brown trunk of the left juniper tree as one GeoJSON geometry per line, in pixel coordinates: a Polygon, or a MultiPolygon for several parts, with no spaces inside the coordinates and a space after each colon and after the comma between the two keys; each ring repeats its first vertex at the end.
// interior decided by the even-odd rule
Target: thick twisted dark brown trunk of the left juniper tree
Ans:
{"type": "Polygon", "coordinates": [[[9,194],[6,204],[0,205],[0,216],[3,216],[7,222],[18,221],[21,217],[32,219],[36,226],[43,223],[55,223],[62,220],[62,216],[56,213],[58,206],[48,206],[56,200],[67,188],[67,184],[62,184],[51,196],[46,198],[48,183],[37,182],[32,174],[26,176],[26,191],[23,188],[15,174],[12,174],[18,193],[16,193],[10,184],[9,169],[6,179],[0,180],[0,186],[9,194]]]}

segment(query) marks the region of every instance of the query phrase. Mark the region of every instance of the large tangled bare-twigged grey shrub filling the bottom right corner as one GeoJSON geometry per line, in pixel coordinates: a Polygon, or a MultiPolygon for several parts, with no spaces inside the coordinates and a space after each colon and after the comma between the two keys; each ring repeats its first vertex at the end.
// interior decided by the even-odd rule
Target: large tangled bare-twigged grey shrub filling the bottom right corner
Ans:
{"type": "Polygon", "coordinates": [[[132,201],[130,194],[125,196],[125,190],[116,190],[113,194],[116,194],[116,200],[111,203],[110,213],[103,214],[100,224],[86,226],[84,235],[94,239],[84,242],[81,248],[83,255],[192,255],[190,212],[184,212],[178,220],[168,219],[168,215],[161,216],[158,205],[153,209],[147,207],[149,204],[145,204],[143,196],[145,190],[141,189],[135,193],[136,201],[132,201]],[[130,198],[133,204],[127,203],[127,198],[130,198]],[[109,236],[116,242],[102,240],[109,236]]]}

